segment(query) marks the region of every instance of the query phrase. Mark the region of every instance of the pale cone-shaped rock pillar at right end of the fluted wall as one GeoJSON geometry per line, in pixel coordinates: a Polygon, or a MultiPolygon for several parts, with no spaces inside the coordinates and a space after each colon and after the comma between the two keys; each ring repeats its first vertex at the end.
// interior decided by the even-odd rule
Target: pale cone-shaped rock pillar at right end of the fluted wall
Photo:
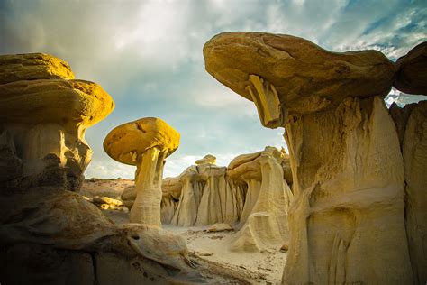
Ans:
{"type": "Polygon", "coordinates": [[[267,147],[230,163],[229,177],[248,185],[242,227],[232,238],[232,251],[278,250],[288,242],[287,210],[293,195],[283,179],[283,157],[283,152],[267,147]]]}

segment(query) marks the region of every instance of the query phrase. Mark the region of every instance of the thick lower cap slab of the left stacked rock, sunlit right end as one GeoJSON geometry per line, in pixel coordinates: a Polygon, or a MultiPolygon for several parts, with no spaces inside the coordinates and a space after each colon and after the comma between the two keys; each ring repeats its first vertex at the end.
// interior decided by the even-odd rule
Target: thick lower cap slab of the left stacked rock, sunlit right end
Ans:
{"type": "Polygon", "coordinates": [[[21,80],[0,85],[0,122],[90,126],[113,109],[112,97],[85,80],[21,80]]]}

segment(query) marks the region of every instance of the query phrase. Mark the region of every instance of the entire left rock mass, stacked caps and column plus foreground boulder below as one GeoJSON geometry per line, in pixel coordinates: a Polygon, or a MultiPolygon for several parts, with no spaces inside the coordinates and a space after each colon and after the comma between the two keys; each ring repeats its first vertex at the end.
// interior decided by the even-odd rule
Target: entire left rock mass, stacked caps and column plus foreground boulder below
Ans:
{"type": "Polygon", "coordinates": [[[0,62],[1,282],[204,281],[183,238],[155,225],[114,225],[66,190],[77,188],[90,160],[86,128],[112,111],[112,98],[71,79],[67,63],[51,56],[0,62]]]}

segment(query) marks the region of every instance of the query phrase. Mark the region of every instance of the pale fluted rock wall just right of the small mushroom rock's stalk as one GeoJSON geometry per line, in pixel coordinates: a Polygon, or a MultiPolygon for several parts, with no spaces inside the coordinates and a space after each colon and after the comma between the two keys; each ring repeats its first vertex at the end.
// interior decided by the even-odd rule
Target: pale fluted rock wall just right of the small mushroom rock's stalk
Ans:
{"type": "MultiPolygon", "coordinates": [[[[235,224],[239,221],[246,189],[234,185],[227,168],[216,166],[213,155],[196,161],[176,178],[163,180],[161,220],[178,226],[235,224]]],[[[135,190],[127,188],[122,198],[132,207],[135,190]]]]}

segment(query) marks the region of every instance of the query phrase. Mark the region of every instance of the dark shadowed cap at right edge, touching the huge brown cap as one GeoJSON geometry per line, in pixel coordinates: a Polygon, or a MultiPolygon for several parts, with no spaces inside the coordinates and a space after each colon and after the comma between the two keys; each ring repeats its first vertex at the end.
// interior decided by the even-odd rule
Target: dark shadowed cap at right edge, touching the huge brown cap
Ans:
{"type": "Polygon", "coordinates": [[[427,95],[427,42],[414,47],[395,65],[395,88],[404,93],[427,95]]]}

